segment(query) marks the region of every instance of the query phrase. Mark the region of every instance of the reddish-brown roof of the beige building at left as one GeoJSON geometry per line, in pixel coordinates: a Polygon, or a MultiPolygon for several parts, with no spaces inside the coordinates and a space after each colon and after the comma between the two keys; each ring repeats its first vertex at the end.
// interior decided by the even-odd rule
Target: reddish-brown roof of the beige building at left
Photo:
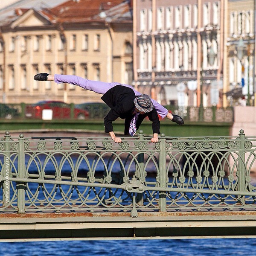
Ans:
{"type": "MultiPolygon", "coordinates": [[[[69,0],[53,8],[40,9],[37,6],[33,10],[51,23],[122,23],[132,22],[129,3],[127,0],[69,0]]],[[[31,8],[16,8],[8,18],[0,18],[0,26],[8,26],[29,10],[31,8]]]]}

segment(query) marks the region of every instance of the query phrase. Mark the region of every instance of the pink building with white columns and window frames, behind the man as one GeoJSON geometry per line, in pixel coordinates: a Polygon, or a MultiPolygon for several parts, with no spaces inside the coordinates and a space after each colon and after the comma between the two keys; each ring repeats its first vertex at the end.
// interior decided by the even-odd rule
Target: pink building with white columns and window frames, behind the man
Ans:
{"type": "MultiPolygon", "coordinates": [[[[227,106],[225,93],[233,76],[227,74],[227,34],[233,8],[250,13],[253,20],[251,0],[135,0],[134,85],[162,104],[227,106]]],[[[250,38],[253,49],[253,21],[250,38]]],[[[251,58],[250,67],[253,63],[251,58]]]]}

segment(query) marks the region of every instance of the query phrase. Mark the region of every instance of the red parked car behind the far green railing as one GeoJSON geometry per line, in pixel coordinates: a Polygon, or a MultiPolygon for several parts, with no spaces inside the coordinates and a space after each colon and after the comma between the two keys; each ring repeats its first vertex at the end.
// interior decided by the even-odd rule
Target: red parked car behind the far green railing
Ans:
{"type": "MultiPolygon", "coordinates": [[[[25,115],[27,118],[42,118],[44,109],[52,110],[52,119],[69,119],[71,117],[70,105],[61,101],[40,101],[26,106],[25,115]]],[[[85,119],[89,116],[88,111],[74,108],[74,118],[85,119]]]]}

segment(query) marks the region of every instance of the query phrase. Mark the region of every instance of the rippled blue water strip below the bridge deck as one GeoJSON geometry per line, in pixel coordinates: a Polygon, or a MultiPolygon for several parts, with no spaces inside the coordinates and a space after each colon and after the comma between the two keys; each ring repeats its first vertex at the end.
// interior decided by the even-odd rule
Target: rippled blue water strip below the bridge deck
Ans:
{"type": "Polygon", "coordinates": [[[5,242],[1,256],[256,256],[256,239],[5,242]]]}

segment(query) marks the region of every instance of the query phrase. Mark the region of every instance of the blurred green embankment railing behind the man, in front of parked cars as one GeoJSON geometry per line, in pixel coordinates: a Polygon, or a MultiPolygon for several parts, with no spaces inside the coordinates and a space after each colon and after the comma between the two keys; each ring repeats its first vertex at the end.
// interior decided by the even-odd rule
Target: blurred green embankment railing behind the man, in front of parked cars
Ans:
{"type": "MultiPolygon", "coordinates": [[[[233,108],[216,107],[179,107],[166,106],[172,113],[182,116],[188,122],[227,122],[234,119],[233,108]]],[[[100,119],[110,110],[103,103],[87,103],[79,105],[31,105],[31,104],[0,104],[0,119],[42,119],[43,110],[52,109],[52,119],[100,119]]]]}

